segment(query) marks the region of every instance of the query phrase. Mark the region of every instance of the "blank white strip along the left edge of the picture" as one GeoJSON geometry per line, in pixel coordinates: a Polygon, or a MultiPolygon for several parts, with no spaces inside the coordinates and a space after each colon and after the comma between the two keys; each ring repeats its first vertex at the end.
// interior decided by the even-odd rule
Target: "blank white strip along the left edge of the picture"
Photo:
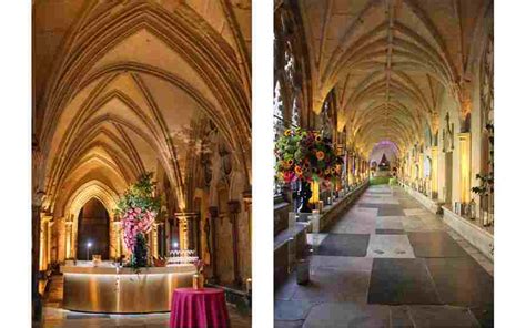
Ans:
{"type": "Polygon", "coordinates": [[[2,3],[0,33],[1,326],[31,327],[31,3],[29,1],[2,3]]]}

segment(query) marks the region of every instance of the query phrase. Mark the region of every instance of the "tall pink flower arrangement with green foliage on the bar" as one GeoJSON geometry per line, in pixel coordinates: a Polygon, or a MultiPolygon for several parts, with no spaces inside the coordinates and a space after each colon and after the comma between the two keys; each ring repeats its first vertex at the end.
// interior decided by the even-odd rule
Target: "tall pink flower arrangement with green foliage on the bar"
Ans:
{"type": "Polygon", "coordinates": [[[132,253],[130,266],[134,268],[148,265],[146,234],[152,229],[160,207],[160,198],[154,196],[152,173],[141,175],[117,205],[115,215],[122,221],[124,245],[132,253]]]}

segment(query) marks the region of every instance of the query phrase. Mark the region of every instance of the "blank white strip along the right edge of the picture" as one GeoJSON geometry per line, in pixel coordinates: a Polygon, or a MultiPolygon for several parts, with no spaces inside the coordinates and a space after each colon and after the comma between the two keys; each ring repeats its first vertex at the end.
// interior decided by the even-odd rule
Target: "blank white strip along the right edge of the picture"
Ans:
{"type": "Polygon", "coordinates": [[[495,327],[523,327],[526,295],[525,1],[495,3],[495,327]]]}

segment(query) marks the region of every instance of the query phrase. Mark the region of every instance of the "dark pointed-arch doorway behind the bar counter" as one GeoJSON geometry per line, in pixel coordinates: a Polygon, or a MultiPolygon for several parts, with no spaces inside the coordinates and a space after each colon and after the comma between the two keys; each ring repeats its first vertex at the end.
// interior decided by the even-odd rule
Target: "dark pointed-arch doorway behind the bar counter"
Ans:
{"type": "Polygon", "coordinates": [[[90,199],[80,209],[78,236],[78,259],[89,260],[93,254],[101,255],[102,259],[110,258],[110,216],[98,199],[90,199]],[[88,247],[89,243],[91,247],[88,247]]]}

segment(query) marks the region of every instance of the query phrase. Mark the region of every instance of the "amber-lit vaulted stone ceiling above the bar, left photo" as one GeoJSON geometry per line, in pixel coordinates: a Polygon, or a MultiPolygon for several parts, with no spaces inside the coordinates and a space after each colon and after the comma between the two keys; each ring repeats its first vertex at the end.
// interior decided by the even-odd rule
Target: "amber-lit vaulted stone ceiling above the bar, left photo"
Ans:
{"type": "Polygon", "coordinates": [[[195,135],[209,121],[249,180],[250,9],[249,0],[33,1],[44,206],[82,188],[119,194],[152,171],[184,209],[195,135]]]}

